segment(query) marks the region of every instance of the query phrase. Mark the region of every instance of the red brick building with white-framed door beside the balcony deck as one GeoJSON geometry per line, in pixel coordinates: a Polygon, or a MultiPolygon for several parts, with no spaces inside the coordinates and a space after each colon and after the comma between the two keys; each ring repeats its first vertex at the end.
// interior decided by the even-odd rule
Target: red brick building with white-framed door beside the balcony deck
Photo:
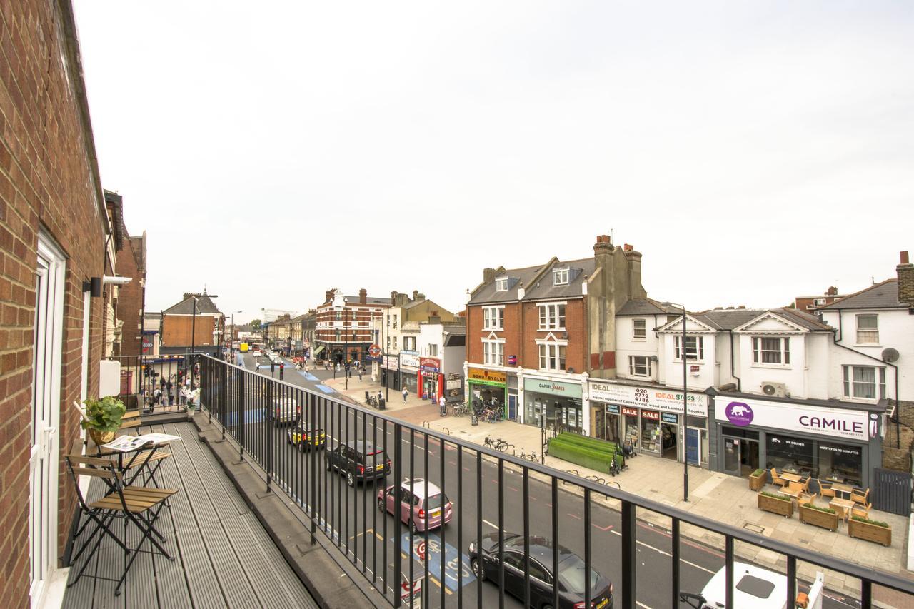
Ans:
{"type": "Polygon", "coordinates": [[[70,5],[0,13],[0,597],[25,607],[59,602],[76,508],[62,455],[79,445],[72,402],[99,391],[116,269],[70,5]]]}

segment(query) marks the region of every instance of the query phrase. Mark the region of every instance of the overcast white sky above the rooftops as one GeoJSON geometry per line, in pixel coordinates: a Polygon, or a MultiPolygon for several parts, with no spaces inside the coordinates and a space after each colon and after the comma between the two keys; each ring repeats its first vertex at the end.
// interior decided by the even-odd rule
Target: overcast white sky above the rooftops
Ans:
{"type": "Polygon", "coordinates": [[[654,298],[776,306],[914,251],[914,3],[75,5],[149,310],[456,311],[610,231],[654,298]]]}

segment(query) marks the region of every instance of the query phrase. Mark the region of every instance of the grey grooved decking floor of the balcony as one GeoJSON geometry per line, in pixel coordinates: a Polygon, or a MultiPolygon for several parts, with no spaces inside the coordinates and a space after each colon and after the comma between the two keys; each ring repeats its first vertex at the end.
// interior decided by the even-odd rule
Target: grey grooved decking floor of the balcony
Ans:
{"type": "MultiPolygon", "coordinates": [[[[156,522],[156,528],[168,540],[165,549],[175,561],[141,552],[121,595],[114,596],[114,582],[88,576],[121,576],[122,550],[106,540],[86,574],[68,588],[63,606],[317,607],[216,458],[197,441],[194,426],[189,422],[171,423],[156,425],[155,431],[184,439],[171,444],[168,450],[174,456],[165,459],[157,475],[159,486],[178,491],[170,500],[171,507],[165,508],[156,522]]],[[[102,488],[101,481],[93,478],[88,501],[99,497],[102,488]]],[[[121,527],[120,523],[115,526],[121,527]]],[[[123,534],[122,528],[119,534],[123,534]]],[[[128,545],[135,547],[138,531],[131,527],[128,535],[128,545]]],[[[149,547],[147,541],[143,548],[149,547]]],[[[80,557],[70,569],[70,581],[84,560],[80,557]]]]}

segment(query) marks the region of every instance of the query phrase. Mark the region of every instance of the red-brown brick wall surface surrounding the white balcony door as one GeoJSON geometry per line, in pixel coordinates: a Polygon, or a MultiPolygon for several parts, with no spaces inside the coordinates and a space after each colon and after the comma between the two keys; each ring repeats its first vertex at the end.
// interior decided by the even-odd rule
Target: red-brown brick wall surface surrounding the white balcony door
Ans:
{"type": "MultiPolygon", "coordinates": [[[[0,597],[10,607],[29,602],[28,454],[39,228],[67,255],[61,453],[79,437],[69,404],[80,399],[82,283],[105,272],[101,188],[86,149],[91,134],[80,113],[81,83],[72,80],[81,70],[75,63],[63,65],[69,61],[64,58],[74,57],[63,37],[72,16],[61,16],[59,7],[47,0],[0,3],[0,597]]],[[[90,395],[98,388],[101,305],[100,298],[92,299],[90,395]]],[[[76,502],[63,475],[58,491],[62,554],[76,502]]]]}

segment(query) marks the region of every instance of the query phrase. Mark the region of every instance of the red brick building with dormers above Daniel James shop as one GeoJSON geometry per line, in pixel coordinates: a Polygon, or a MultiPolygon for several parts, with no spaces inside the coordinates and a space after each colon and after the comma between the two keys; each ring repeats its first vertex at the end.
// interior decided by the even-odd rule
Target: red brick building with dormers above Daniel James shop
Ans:
{"type": "Polygon", "coordinates": [[[485,269],[467,303],[471,401],[505,418],[589,429],[587,379],[615,376],[615,315],[641,285],[641,254],[600,235],[592,258],[485,269]]]}

